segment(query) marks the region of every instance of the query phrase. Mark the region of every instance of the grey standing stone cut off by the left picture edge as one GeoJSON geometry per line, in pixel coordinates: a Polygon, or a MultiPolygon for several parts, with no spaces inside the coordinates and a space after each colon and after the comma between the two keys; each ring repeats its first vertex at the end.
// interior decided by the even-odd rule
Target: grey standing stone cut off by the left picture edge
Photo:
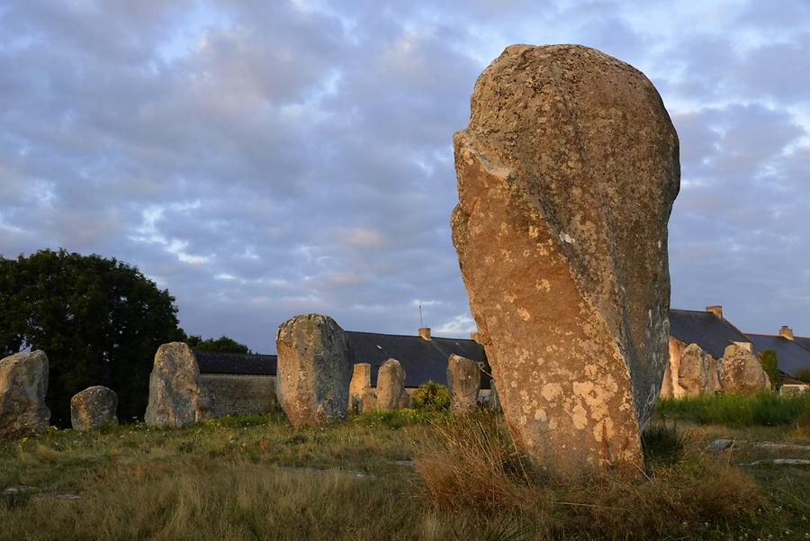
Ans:
{"type": "Polygon", "coordinates": [[[44,432],[50,421],[47,391],[45,352],[15,353],[0,360],[0,438],[44,432]]]}

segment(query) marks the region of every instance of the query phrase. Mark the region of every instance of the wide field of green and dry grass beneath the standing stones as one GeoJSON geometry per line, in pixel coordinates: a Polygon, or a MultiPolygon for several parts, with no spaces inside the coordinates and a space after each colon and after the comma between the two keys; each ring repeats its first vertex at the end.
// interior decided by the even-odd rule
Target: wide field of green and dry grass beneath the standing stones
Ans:
{"type": "Polygon", "coordinates": [[[485,412],[53,431],[0,444],[0,539],[810,538],[806,466],[736,465],[810,459],[810,429],[669,417],[640,482],[539,478],[485,412]]]}

